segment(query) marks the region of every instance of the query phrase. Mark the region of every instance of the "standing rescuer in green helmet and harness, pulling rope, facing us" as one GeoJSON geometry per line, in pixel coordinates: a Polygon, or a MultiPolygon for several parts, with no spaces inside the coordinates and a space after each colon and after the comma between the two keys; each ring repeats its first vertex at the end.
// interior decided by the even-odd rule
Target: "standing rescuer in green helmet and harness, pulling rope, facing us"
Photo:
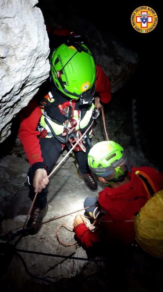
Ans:
{"type": "MultiPolygon", "coordinates": [[[[99,110],[111,98],[109,80],[95,64],[93,51],[83,43],[81,36],[65,31],[63,36],[64,42],[50,56],[47,94],[39,105],[32,100],[22,111],[19,138],[31,166],[28,173],[30,199],[39,192],[27,223],[27,227],[33,227],[29,229],[30,234],[40,230],[41,225],[37,225],[47,212],[50,169],[65,145],[70,149],[95,118],[95,96],[98,96],[99,110]]],[[[91,138],[92,128],[74,150],[79,164],[76,174],[95,192],[98,185],[87,162],[91,138]]]]}

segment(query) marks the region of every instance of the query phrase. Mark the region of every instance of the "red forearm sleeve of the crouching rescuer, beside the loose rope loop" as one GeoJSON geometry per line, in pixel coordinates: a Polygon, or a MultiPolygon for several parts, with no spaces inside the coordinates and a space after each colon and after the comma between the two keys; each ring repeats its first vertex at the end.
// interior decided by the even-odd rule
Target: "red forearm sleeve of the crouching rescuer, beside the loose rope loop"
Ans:
{"type": "Polygon", "coordinates": [[[101,242],[97,233],[91,232],[84,223],[75,226],[74,231],[82,247],[86,250],[93,247],[95,243],[101,242]]]}

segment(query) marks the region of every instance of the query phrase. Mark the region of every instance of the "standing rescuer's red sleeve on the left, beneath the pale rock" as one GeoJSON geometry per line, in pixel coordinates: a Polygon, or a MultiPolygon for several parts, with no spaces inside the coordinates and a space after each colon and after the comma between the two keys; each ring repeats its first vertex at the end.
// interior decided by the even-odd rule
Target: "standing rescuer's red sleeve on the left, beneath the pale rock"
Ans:
{"type": "Polygon", "coordinates": [[[43,162],[37,137],[40,132],[36,131],[41,115],[41,109],[35,100],[31,100],[20,113],[19,139],[31,166],[36,162],[43,162]]]}

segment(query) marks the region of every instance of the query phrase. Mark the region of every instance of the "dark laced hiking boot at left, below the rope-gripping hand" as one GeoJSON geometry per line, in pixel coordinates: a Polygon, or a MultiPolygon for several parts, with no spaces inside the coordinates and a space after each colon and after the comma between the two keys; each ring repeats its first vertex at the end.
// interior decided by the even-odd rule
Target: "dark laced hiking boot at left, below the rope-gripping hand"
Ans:
{"type": "Polygon", "coordinates": [[[42,223],[42,220],[44,216],[46,215],[47,211],[48,211],[48,204],[44,208],[33,207],[31,216],[26,225],[26,228],[32,227],[28,229],[28,234],[34,235],[40,231],[42,225],[39,225],[39,224],[42,223]]]}

